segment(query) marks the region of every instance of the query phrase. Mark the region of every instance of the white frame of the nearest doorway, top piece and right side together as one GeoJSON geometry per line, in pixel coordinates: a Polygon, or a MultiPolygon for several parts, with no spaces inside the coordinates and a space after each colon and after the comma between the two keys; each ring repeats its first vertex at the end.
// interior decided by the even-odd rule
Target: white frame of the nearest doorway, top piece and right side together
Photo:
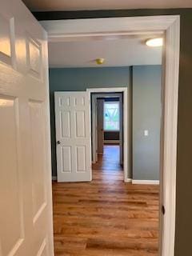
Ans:
{"type": "Polygon", "coordinates": [[[180,15],[82,18],[42,21],[41,24],[48,32],[50,42],[118,38],[136,34],[164,36],[160,199],[166,213],[161,222],[159,255],[174,256],[180,15]]]}

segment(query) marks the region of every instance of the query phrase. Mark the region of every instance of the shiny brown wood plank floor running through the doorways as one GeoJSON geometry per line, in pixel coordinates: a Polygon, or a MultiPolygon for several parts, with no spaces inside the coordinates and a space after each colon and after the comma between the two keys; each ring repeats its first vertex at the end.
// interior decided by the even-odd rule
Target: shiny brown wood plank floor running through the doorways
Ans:
{"type": "Polygon", "coordinates": [[[93,182],[53,183],[55,256],[158,256],[158,186],[124,183],[118,146],[93,182]]]}

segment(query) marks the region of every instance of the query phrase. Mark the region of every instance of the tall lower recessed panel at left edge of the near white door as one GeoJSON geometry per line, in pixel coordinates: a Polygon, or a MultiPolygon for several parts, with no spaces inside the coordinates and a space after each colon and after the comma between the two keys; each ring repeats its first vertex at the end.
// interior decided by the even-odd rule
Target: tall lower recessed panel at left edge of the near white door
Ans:
{"type": "Polygon", "coordinates": [[[21,187],[21,173],[19,164],[18,141],[18,99],[0,97],[0,154],[4,157],[0,161],[1,190],[1,231],[2,255],[13,253],[23,242],[23,202],[21,187]],[[3,122],[2,122],[3,121],[3,122]],[[6,152],[6,154],[5,154],[6,152]],[[2,172],[3,170],[3,172],[2,172]],[[7,200],[9,198],[10,200],[7,200]],[[12,218],[14,209],[14,218],[12,218]],[[7,220],[11,222],[7,222],[7,220]]]}

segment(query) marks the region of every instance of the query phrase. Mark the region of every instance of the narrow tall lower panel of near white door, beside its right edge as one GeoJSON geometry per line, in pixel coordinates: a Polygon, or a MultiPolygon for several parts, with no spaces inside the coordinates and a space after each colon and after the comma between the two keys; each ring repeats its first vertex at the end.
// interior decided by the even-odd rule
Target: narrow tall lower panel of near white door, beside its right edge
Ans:
{"type": "Polygon", "coordinates": [[[32,153],[32,198],[33,198],[33,222],[37,222],[46,206],[45,191],[45,147],[42,102],[30,101],[30,127],[31,127],[31,153],[32,153]],[[39,158],[41,156],[41,158],[39,158]]]}

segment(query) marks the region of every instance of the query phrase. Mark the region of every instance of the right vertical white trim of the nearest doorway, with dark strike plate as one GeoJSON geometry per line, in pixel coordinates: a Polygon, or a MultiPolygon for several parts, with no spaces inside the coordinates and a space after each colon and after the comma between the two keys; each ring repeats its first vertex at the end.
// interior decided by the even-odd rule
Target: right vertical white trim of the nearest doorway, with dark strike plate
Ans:
{"type": "Polygon", "coordinates": [[[166,214],[162,225],[162,256],[174,256],[176,170],[178,139],[178,74],[180,53],[180,17],[167,24],[164,65],[164,109],[162,113],[162,196],[166,214]]]}

